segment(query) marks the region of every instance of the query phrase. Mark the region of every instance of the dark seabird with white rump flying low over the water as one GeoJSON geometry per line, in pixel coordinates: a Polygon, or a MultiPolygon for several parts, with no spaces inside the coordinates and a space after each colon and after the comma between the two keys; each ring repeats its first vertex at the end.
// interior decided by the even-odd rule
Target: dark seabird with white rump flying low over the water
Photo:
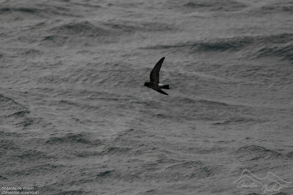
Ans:
{"type": "Polygon", "coordinates": [[[162,66],[162,63],[164,61],[165,57],[161,58],[159,62],[156,63],[155,67],[151,71],[151,74],[149,75],[149,82],[145,82],[144,86],[147,86],[151,89],[154,89],[155,91],[168,95],[167,93],[163,92],[161,89],[171,89],[169,85],[164,85],[159,82],[159,72],[162,66]]]}

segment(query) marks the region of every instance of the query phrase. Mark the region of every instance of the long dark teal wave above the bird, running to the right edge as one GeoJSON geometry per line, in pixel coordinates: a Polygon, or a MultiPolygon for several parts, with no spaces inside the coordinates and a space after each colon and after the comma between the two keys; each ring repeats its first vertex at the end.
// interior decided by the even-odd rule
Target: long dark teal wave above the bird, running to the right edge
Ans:
{"type": "Polygon", "coordinates": [[[242,36],[232,38],[217,38],[208,42],[196,41],[176,43],[169,45],[154,45],[140,47],[147,50],[167,50],[173,52],[205,53],[205,52],[236,52],[248,51],[245,53],[249,58],[260,57],[283,57],[292,61],[293,45],[286,45],[293,40],[293,34],[273,34],[260,36],[242,36]],[[265,45],[265,46],[264,46],[265,45]]]}

